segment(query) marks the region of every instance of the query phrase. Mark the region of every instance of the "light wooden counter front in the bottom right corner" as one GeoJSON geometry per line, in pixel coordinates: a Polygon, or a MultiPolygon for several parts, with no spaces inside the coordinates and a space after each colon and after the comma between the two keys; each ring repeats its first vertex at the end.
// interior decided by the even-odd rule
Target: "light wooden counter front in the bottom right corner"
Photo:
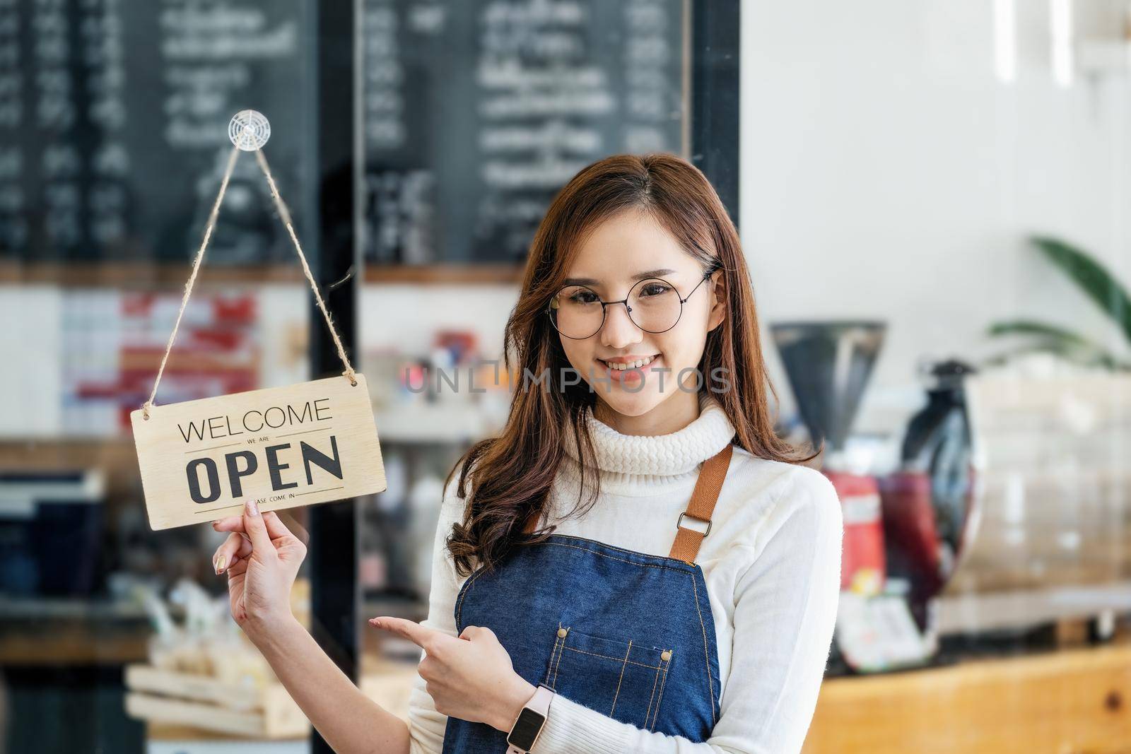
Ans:
{"type": "Polygon", "coordinates": [[[1129,754],[1131,645],[830,678],[804,754],[1129,754]]]}

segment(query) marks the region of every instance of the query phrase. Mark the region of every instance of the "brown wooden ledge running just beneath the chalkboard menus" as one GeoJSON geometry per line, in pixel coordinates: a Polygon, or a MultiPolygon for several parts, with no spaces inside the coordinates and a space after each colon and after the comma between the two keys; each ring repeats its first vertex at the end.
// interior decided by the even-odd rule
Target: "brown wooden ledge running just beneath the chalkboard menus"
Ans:
{"type": "MultiPolygon", "coordinates": [[[[34,284],[127,289],[182,288],[191,265],[133,262],[34,262],[0,261],[0,285],[34,284]]],[[[366,284],[414,285],[516,285],[523,279],[523,265],[366,265],[366,284]]],[[[303,284],[297,261],[276,265],[210,265],[205,258],[197,285],[253,285],[262,283],[303,284]]]]}

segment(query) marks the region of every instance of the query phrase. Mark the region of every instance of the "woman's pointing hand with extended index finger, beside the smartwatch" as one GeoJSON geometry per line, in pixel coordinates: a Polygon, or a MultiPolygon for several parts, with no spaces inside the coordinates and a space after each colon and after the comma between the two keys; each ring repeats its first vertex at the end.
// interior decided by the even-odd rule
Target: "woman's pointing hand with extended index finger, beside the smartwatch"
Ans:
{"type": "Polygon", "coordinates": [[[417,669],[441,714],[510,731],[537,690],[515,673],[510,655],[486,626],[467,626],[457,639],[405,618],[380,616],[370,624],[424,650],[417,669]]]}

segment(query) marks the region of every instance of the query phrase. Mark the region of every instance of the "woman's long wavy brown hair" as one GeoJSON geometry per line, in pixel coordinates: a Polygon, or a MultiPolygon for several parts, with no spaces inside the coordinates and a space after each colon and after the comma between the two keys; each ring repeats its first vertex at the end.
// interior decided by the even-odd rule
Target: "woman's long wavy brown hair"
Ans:
{"type": "Polygon", "coordinates": [[[817,456],[800,451],[778,437],[769,410],[769,396],[777,398],[762,361],[750,275],[739,244],[739,233],[723,202],[702,172],[670,154],[613,155],[575,175],[554,197],[538,225],[526,262],[523,287],[503,340],[507,371],[533,380],[542,375],[542,389],[513,392],[502,434],[482,440],[456,462],[444,482],[447,488],[460,469],[458,496],[470,495],[463,522],[452,525],[447,538],[456,572],[469,575],[475,561],[486,570],[518,543],[536,541],[555,527],[524,534],[532,515],[541,517],[558,467],[563,443],[572,437],[581,465],[581,487],[593,474],[593,495],[584,514],[599,494],[599,475],[593,462],[593,442],[585,432],[585,409],[596,402],[588,383],[561,381],[570,369],[558,331],[545,313],[546,303],[561,289],[569,263],[582,240],[602,220],[621,211],[649,213],[667,229],[703,270],[720,268],[725,276],[727,312],[719,327],[707,335],[699,362],[702,384],[714,370],[729,379],[729,389],[711,395],[722,404],[736,432],[734,444],[753,456],[802,463],[817,456]],[[465,488],[469,471],[472,488],[465,488]]]}

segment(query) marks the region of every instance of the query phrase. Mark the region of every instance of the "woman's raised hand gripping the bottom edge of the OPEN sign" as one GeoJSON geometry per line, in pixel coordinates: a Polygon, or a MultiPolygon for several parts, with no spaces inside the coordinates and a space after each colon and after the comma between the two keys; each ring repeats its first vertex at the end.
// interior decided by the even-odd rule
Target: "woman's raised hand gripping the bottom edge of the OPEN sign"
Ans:
{"type": "Polygon", "coordinates": [[[214,521],[213,528],[232,532],[216,549],[213,565],[216,573],[227,572],[232,617],[257,641],[292,617],[291,587],[307,556],[307,532],[296,526],[300,539],[278,513],[260,514],[253,500],[247,501],[243,515],[214,521]]]}

